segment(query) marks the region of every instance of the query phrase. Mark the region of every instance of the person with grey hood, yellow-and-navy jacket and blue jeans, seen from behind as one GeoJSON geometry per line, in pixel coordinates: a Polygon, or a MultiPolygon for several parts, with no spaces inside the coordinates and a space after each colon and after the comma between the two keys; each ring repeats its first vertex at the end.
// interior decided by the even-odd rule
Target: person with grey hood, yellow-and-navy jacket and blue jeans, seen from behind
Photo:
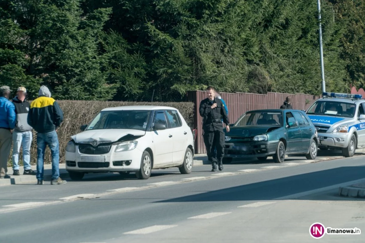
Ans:
{"type": "Polygon", "coordinates": [[[63,112],[58,103],[51,98],[46,86],[39,89],[39,97],[32,101],[28,113],[28,124],[37,131],[37,180],[43,185],[44,156],[46,146],[51,149],[52,179],[51,185],[66,184],[59,177],[59,142],[57,130],[63,120],[63,112]]]}

